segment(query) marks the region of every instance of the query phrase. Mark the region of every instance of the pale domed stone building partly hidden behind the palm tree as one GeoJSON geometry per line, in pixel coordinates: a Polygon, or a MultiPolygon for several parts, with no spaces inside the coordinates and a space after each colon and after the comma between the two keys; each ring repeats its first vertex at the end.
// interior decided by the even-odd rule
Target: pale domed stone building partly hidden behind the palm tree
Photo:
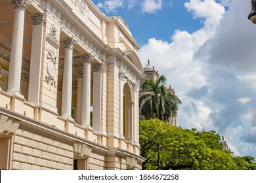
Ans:
{"type": "MultiPolygon", "coordinates": [[[[150,78],[154,81],[156,81],[159,78],[159,73],[158,71],[155,70],[155,67],[150,64],[150,59],[148,59],[148,63],[145,67],[143,67],[143,72],[144,75],[146,75],[142,80],[140,80],[140,84],[142,84],[146,79],[150,78]]],[[[170,93],[175,93],[174,89],[171,88],[171,85],[166,84],[165,88],[170,92],[170,93]]],[[[142,95],[143,92],[140,91],[140,95],[142,95]]],[[[168,122],[170,125],[177,126],[177,116],[171,118],[168,122]]]]}

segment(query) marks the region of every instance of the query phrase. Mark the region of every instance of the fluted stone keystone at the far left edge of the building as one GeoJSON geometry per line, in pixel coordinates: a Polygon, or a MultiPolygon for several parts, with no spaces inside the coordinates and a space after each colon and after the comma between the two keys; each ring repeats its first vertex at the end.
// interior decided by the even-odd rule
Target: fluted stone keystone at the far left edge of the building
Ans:
{"type": "Polygon", "coordinates": [[[19,125],[20,122],[18,120],[0,114],[0,133],[13,135],[14,133],[16,133],[16,130],[18,129],[19,125]]]}

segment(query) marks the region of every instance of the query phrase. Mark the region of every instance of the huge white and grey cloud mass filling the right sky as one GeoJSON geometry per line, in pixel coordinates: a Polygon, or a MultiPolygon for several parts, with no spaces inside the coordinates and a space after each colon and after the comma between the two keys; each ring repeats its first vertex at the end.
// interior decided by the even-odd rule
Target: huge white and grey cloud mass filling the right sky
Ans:
{"type": "Polygon", "coordinates": [[[236,155],[256,158],[251,7],[242,0],[190,0],[184,7],[202,21],[202,28],[176,30],[170,41],[149,39],[139,51],[142,65],[149,58],[181,98],[178,125],[214,129],[236,155]]]}

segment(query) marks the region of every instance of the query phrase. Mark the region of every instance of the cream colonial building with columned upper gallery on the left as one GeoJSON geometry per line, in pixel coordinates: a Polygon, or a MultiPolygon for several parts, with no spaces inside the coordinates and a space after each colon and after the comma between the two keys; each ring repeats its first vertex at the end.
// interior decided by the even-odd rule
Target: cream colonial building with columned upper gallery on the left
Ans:
{"type": "Polygon", "coordinates": [[[140,169],[138,49],[90,0],[1,0],[0,169],[140,169]]]}

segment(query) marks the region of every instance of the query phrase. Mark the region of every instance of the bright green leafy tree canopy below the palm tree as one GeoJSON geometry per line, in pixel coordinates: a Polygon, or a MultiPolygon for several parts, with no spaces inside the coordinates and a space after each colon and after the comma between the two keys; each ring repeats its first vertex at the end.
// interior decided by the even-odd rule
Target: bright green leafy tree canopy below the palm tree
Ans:
{"type": "Polygon", "coordinates": [[[234,157],[223,150],[215,131],[173,127],[158,119],[140,120],[142,169],[255,169],[251,156],[234,157]]]}

